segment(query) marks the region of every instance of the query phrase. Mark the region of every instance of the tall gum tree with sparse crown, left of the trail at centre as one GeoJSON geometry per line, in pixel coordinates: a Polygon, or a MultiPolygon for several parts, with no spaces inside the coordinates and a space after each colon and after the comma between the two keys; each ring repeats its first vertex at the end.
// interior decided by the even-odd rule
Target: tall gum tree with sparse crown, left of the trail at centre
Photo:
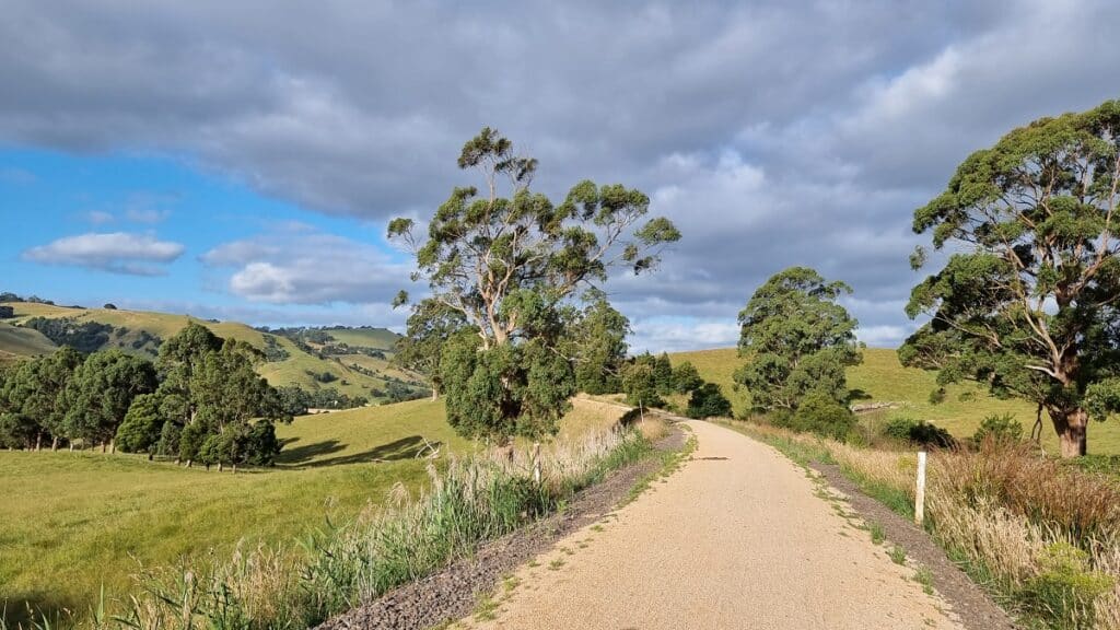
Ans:
{"type": "Polygon", "coordinates": [[[566,307],[612,268],[654,269],[680,232],[647,219],[650,198],[622,185],[580,182],[553,204],[530,187],[536,160],[489,128],[458,165],[477,170],[482,187],[455,188],[426,233],[411,219],[389,224],[389,239],[416,256],[413,280],[427,280],[430,299],[461,314],[473,337],[454,337],[440,359],[448,419],[500,441],[551,433],[575,390],[561,351],[566,307]]]}

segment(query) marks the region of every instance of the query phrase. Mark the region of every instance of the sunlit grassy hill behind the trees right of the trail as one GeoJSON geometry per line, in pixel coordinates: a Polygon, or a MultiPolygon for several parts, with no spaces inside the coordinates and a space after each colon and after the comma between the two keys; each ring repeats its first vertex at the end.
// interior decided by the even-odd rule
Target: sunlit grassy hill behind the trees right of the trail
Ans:
{"type": "MultiPolygon", "coordinates": [[[[720,386],[731,400],[736,415],[747,411],[749,395],[741,388],[739,391],[732,389],[731,374],[741,363],[735,349],[681,352],[673,354],[672,360],[674,363],[691,361],[706,380],[720,386]]],[[[930,392],[936,389],[934,373],[903,368],[894,350],[867,349],[864,363],[848,370],[848,387],[867,395],[867,399],[858,402],[900,404],[899,409],[872,414],[872,417],[905,414],[943,426],[958,437],[972,435],[980,420],[991,414],[1012,414],[1027,432],[1035,421],[1033,405],[1020,400],[997,400],[971,385],[951,386],[946,388],[944,402],[930,402],[930,392]],[[962,393],[972,395],[972,399],[962,400],[962,393]]],[[[1045,415],[1043,423],[1043,443],[1056,451],[1054,428],[1045,415]]],[[[1089,430],[1090,453],[1120,453],[1120,421],[1093,423],[1089,430]]]]}

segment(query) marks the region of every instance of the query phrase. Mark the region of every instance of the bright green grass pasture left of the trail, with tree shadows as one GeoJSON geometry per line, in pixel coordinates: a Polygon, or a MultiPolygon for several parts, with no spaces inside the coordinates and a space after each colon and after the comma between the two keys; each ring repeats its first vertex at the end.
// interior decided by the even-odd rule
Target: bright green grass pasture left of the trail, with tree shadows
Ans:
{"type": "MultiPolygon", "coordinates": [[[[577,400],[561,436],[619,415],[577,400]]],[[[138,563],[227,555],[242,538],[292,540],[328,513],[380,503],[396,482],[426,483],[427,460],[416,455],[429,444],[476,447],[428,400],[302,416],[277,433],[279,465],[236,475],[124,454],[0,452],[0,608],[12,619],[25,602],[84,613],[102,584],[123,596],[138,563]]]]}

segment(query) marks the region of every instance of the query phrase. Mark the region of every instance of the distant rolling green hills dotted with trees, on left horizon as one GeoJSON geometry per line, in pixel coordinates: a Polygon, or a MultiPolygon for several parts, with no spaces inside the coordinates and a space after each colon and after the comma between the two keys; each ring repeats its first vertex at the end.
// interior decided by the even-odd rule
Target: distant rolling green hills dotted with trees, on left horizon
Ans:
{"type": "Polygon", "coordinates": [[[272,333],[237,322],[211,322],[189,315],[26,302],[3,304],[11,306],[16,316],[0,324],[0,361],[53,351],[55,343],[27,327],[37,317],[56,322],[60,328],[55,331],[57,334],[74,331],[74,343],[85,344],[80,350],[116,348],[149,359],[156,356],[162,340],[174,336],[187,322],[197,322],[218,336],[243,341],[265,352],[269,361],[258,371],[273,386],[297,385],[312,391],[332,387],[372,401],[388,400],[386,390],[391,386],[412,391],[424,387],[416,374],[390,367],[398,335],[385,328],[317,330],[323,334],[312,335],[318,340],[314,342],[298,336],[301,328],[272,333]]]}

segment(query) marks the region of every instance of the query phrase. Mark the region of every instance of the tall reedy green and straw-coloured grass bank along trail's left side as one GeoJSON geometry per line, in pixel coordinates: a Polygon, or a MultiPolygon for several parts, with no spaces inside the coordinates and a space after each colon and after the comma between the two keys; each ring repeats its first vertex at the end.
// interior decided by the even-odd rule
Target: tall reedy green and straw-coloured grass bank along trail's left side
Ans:
{"type": "MultiPolygon", "coordinates": [[[[388,503],[337,518],[298,540],[239,545],[139,574],[127,601],[84,626],[302,629],[420,578],[479,544],[554,511],[573,492],[652,452],[637,430],[595,432],[510,454],[452,456],[429,482],[395,484],[388,503]],[[534,479],[539,463],[540,481],[534,479]]],[[[36,628],[75,620],[32,620],[36,628]]]]}

